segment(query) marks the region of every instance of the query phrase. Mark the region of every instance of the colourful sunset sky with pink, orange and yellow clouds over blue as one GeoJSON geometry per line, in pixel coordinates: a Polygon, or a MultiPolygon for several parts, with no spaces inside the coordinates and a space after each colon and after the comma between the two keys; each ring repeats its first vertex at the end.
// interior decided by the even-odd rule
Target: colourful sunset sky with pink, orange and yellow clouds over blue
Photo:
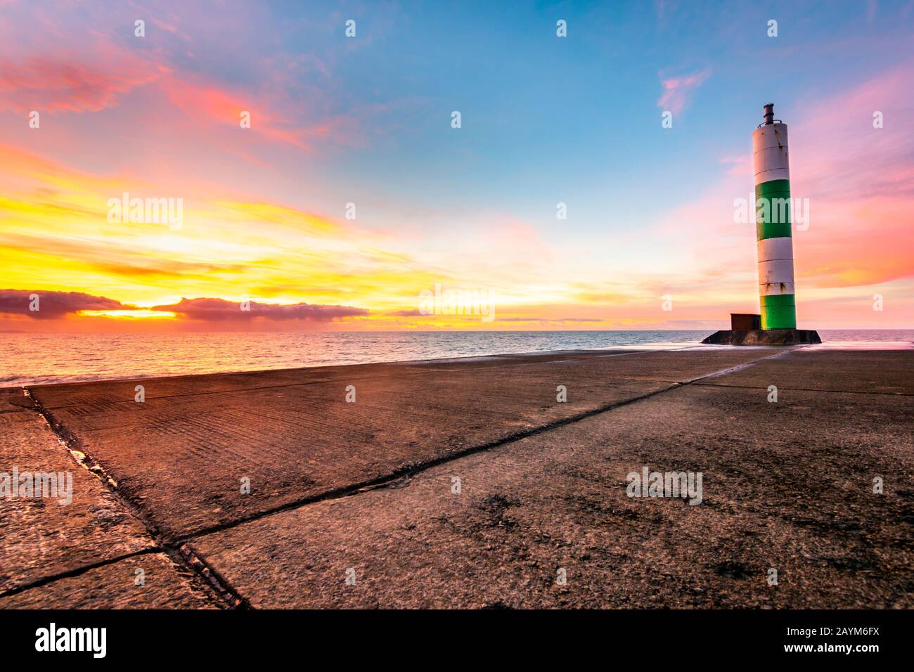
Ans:
{"type": "Polygon", "coordinates": [[[723,328],[771,101],[798,326],[911,328],[912,37],[914,0],[0,0],[0,331],[723,328]]]}

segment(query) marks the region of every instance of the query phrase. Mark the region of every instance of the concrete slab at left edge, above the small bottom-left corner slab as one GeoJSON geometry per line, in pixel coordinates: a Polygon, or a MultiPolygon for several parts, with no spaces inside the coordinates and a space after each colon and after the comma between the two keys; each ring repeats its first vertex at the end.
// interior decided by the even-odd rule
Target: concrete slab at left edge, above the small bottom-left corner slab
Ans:
{"type": "MultiPolygon", "coordinates": [[[[21,392],[20,392],[21,394],[21,392]]],[[[64,474],[72,501],[0,497],[0,593],[153,545],[145,528],[81,468],[36,412],[0,413],[0,472],[64,474]]]]}

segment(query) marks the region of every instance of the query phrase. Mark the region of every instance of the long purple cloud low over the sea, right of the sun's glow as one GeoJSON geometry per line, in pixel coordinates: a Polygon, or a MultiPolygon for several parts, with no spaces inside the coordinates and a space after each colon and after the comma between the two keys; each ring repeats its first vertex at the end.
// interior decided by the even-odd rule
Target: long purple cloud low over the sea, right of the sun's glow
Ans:
{"type": "Polygon", "coordinates": [[[192,320],[220,322],[250,320],[262,317],[268,320],[311,320],[330,322],[337,317],[368,315],[364,308],[349,305],[319,304],[259,304],[250,302],[250,311],[241,310],[241,304],[224,299],[181,299],[176,304],[154,305],[151,310],[171,311],[192,320]]]}

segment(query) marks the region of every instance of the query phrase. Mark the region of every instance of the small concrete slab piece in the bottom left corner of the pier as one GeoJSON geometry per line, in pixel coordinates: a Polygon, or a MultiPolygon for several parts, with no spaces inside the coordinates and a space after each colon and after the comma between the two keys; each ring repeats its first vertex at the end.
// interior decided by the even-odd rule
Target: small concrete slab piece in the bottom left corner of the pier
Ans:
{"type": "Polygon", "coordinates": [[[220,606],[196,577],[164,553],[126,558],[0,597],[0,609],[218,609],[220,606]],[[137,585],[141,578],[143,584],[137,585]]]}

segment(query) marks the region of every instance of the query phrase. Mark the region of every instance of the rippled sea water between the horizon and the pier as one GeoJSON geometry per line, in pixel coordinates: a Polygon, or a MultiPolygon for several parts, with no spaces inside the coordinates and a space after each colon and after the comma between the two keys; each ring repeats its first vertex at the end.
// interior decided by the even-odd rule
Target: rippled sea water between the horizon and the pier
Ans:
{"type": "MultiPolygon", "coordinates": [[[[607,347],[696,347],[711,331],[0,334],[0,387],[607,347]]],[[[820,331],[829,347],[912,347],[914,330],[820,331]],[[866,344],[870,344],[867,346],[866,344]]],[[[715,346],[721,347],[721,346],[715,346]]]]}

